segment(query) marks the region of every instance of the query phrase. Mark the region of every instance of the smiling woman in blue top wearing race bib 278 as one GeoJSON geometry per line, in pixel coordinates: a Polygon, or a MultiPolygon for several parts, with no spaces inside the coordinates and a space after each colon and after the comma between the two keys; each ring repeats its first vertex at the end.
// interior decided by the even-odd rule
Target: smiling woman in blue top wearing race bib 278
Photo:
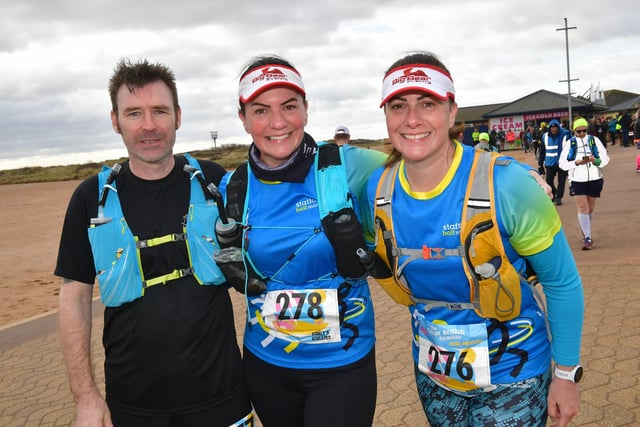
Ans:
{"type": "MultiPolygon", "coordinates": [[[[305,132],[302,78],[282,58],[258,57],[242,73],[238,95],[238,116],[253,143],[236,219],[245,262],[264,283],[246,297],[243,357],[251,400],[265,427],[370,426],[376,402],[371,295],[360,265],[355,277],[341,268],[345,258],[358,262],[355,251],[337,252],[321,214],[335,194],[316,182],[325,151],[305,132]]],[[[344,180],[333,184],[346,181],[341,196],[353,206],[336,221],[354,225],[364,245],[358,200],[386,156],[353,146],[328,149],[341,155],[344,180]]],[[[220,186],[227,202],[238,199],[230,194],[237,188],[232,175],[220,186]]]]}

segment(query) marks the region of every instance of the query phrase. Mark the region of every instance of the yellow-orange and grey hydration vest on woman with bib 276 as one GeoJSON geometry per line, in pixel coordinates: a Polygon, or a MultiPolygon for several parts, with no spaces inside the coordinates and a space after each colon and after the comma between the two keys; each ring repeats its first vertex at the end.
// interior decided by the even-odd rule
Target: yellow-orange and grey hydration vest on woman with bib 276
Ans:
{"type": "MultiPolygon", "coordinates": [[[[475,310],[481,317],[499,321],[507,321],[520,314],[521,276],[505,253],[498,229],[493,194],[494,166],[506,165],[509,162],[510,160],[502,158],[497,153],[475,152],[462,211],[460,246],[446,249],[429,248],[427,245],[420,249],[397,246],[393,232],[391,196],[400,162],[383,171],[375,200],[375,252],[391,269],[392,275],[389,278],[374,279],[397,303],[406,306],[422,303],[427,309],[447,307],[451,310],[475,310]],[[406,258],[398,265],[401,256],[406,258]],[[437,262],[438,259],[450,256],[462,258],[462,265],[469,280],[469,301],[448,302],[416,298],[402,274],[404,267],[417,259],[437,262]]],[[[535,276],[528,280],[535,280],[535,276]]]]}

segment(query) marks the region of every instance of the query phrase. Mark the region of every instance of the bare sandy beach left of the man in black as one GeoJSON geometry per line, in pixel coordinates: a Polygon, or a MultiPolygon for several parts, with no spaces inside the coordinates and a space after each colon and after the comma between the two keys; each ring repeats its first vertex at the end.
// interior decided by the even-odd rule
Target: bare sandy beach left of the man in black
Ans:
{"type": "Polygon", "coordinates": [[[53,275],[67,203],[78,181],[0,185],[0,327],[53,310],[53,275]]]}

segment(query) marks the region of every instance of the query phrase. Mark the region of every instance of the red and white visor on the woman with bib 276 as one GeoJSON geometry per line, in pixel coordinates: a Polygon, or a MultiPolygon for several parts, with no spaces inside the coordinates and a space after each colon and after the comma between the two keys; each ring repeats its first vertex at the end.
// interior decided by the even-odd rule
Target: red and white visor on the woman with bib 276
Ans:
{"type": "Polygon", "coordinates": [[[429,93],[443,101],[456,97],[453,80],[446,71],[428,65],[403,65],[384,76],[380,108],[399,93],[412,90],[429,93]]]}

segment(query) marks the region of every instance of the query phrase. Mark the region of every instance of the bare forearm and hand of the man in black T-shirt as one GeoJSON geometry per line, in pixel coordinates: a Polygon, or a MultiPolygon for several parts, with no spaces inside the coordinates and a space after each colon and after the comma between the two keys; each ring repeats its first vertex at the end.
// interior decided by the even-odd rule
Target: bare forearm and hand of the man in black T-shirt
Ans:
{"type": "Polygon", "coordinates": [[[76,402],[76,425],[112,426],[111,414],[96,386],[91,367],[92,297],[91,285],[76,281],[62,284],[58,334],[76,402]]]}

